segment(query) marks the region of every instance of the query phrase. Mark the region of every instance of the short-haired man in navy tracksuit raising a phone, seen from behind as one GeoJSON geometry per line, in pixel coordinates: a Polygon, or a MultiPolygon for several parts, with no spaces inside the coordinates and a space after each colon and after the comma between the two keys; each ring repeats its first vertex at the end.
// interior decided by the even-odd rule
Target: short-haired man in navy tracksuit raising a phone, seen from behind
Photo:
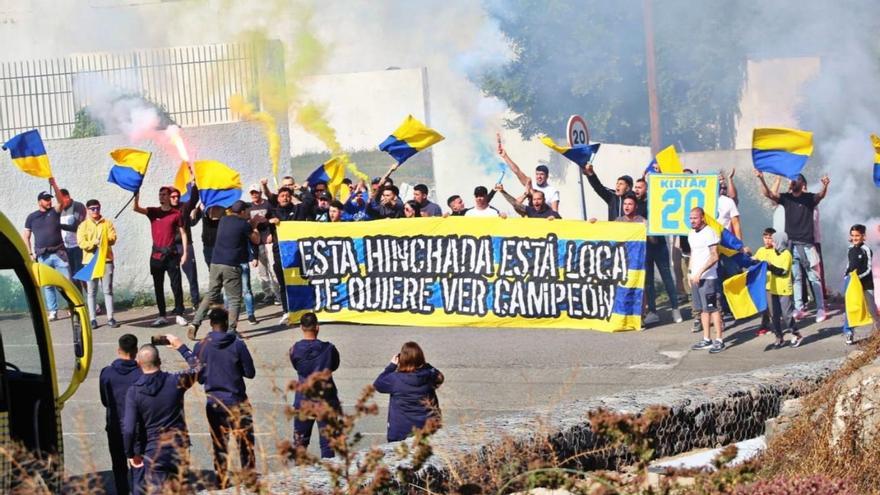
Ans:
{"type": "Polygon", "coordinates": [[[138,350],[137,362],[143,376],[137,379],[125,395],[125,414],[122,442],[128,464],[144,469],[144,483],[134,486],[135,493],[166,493],[182,489],[174,486],[183,479],[187,470],[186,452],[189,432],[183,409],[183,397],[195,384],[201,364],[192,351],[176,336],[168,334],[169,347],[186,359],[189,369],[175,373],[162,371],[159,349],[144,344],[138,350]],[[138,433],[143,435],[143,454],[136,450],[138,433]]]}

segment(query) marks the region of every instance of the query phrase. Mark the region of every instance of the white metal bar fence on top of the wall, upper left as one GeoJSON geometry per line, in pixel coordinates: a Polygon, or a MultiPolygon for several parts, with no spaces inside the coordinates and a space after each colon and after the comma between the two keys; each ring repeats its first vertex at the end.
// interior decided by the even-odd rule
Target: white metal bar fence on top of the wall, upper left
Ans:
{"type": "Polygon", "coordinates": [[[34,128],[44,139],[68,138],[78,110],[122,95],[161,105],[184,127],[230,122],[229,95],[246,94],[258,79],[245,44],[0,63],[0,138],[34,128]]]}

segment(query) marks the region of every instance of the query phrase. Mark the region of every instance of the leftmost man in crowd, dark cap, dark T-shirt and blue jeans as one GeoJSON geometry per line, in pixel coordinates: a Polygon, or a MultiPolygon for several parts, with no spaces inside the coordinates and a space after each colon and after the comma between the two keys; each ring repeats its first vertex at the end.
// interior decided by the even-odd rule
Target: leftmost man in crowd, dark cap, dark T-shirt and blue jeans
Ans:
{"type": "MultiPolygon", "coordinates": [[[[60,196],[61,190],[58,189],[54,177],[49,178],[49,185],[52,186],[55,194],[60,196]]],[[[24,221],[22,237],[34,261],[51,266],[69,279],[70,265],[61,231],[76,232],[76,227],[61,222],[62,205],[59,202],[53,206],[52,198],[52,194],[48,191],[37,195],[38,209],[28,215],[24,221]],[[34,237],[33,246],[31,246],[31,234],[34,237]]],[[[44,287],[43,298],[49,311],[49,321],[58,319],[58,290],[54,287],[44,287]]]]}

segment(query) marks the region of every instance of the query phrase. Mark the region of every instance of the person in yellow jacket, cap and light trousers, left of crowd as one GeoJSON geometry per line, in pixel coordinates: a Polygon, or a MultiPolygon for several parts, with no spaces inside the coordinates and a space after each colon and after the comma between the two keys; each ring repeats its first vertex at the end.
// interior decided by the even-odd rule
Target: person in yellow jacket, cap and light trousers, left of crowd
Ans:
{"type": "Polygon", "coordinates": [[[107,307],[107,325],[110,328],[118,328],[119,323],[113,318],[113,245],[116,244],[116,227],[110,219],[101,215],[101,202],[90,199],[86,202],[89,217],[79,224],[76,229],[76,240],[83,251],[83,263],[88,265],[98,253],[101,245],[101,235],[106,225],[107,232],[107,255],[104,265],[104,276],[100,279],[92,279],[86,283],[86,301],[89,309],[89,318],[92,320],[92,329],[98,328],[98,320],[95,311],[95,299],[98,295],[98,283],[104,291],[104,305],[107,307]]]}

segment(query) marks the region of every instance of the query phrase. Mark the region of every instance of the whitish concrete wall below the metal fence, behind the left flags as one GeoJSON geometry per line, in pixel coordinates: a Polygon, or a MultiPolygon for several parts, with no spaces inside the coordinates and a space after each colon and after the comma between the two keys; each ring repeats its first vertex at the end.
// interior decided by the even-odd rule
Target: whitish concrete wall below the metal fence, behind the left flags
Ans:
{"type": "MultiPolygon", "coordinates": [[[[256,125],[235,123],[188,128],[184,130],[184,135],[194,159],[215,159],[235,168],[241,174],[245,188],[270,174],[266,140],[256,125]]],[[[287,140],[284,136],[282,140],[286,150],[287,140]]],[[[127,191],[107,182],[112,163],[107,154],[111,150],[137,147],[154,153],[141,190],[144,206],[158,205],[159,187],[173,184],[178,167],[175,156],[153,143],[132,145],[121,135],[46,141],[45,144],[59,186],[68,189],[77,201],[85,203],[91,198],[100,200],[105,216],[115,215],[131,197],[127,191]]],[[[3,169],[6,173],[5,181],[0,186],[0,211],[13,224],[24,228],[27,215],[37,209],[37,193],[49,189],[49,186],[46,181],[15,169],[5,156],[2,161],[5,162],[3,169]]],[[[113,248],[117,292],[123,297],[132,292],[152,293],[152,279],[147,265],[151,246],[149,221],[129,207],[114,223],[119,235],[113,248]]],[[[205,286],[207,269],[201,255],[201,227],[193,230],[199,279],[205,286]]],[[[170,296],[170,292],[166,292],[170,296]]]]}

